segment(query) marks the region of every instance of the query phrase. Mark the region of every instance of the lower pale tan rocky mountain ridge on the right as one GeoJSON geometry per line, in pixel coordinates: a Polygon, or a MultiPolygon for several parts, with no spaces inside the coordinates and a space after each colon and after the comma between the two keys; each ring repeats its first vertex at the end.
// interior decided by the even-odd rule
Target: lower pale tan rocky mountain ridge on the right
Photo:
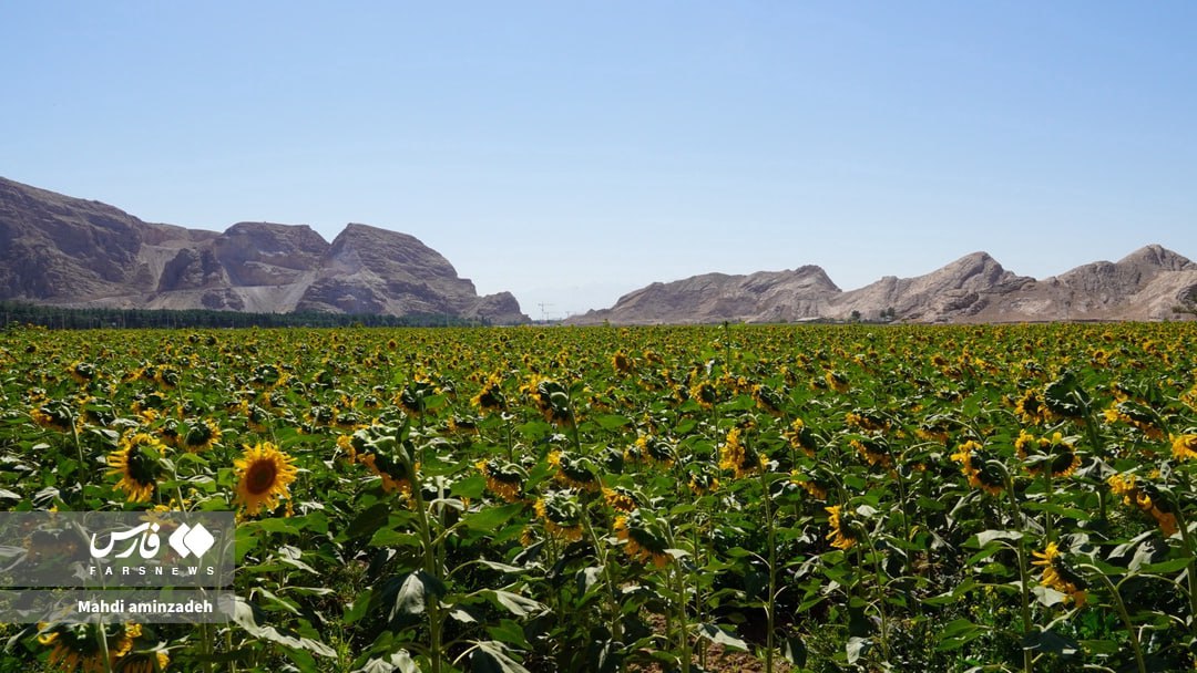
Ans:
{"type": "Polygon", "coordinates": [[[1035,280],[985,252],[913,279],[886,276],[843,292],[819,267],[748,276],[707,274],[652,283],[573,324],[893,319],[910,323],[1172,320],[1197,300],[1197,264],[1159,245],[1035,280]]]}

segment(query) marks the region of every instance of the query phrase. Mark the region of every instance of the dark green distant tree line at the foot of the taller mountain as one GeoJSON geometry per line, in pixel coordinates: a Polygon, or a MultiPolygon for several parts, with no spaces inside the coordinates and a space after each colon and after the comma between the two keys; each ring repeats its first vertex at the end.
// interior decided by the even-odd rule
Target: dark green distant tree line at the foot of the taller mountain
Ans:
{"type": "Polygon", "coordinates": [[[445,313],[375,316],[365,313],[242,313],[238,311],[148,308],[63,308],[19,301],[0,301],[0,330],[40,325],[62,330],[110,328],[432,328],[476,326],[485,319],[467,320],[445,313]]]}

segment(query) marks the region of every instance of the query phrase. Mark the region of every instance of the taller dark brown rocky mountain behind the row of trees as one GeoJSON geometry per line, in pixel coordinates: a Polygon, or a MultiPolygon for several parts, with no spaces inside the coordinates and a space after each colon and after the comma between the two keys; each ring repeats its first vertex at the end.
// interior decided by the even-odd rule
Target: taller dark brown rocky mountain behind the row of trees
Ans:
{"type": "Polygon", "coordinates": [[[305,225],[188,230],[4,178],[0,299],[529,322],[510,293],[479,296],[448,259],[405,233],[351,224],[328,243],[305,225]]]}

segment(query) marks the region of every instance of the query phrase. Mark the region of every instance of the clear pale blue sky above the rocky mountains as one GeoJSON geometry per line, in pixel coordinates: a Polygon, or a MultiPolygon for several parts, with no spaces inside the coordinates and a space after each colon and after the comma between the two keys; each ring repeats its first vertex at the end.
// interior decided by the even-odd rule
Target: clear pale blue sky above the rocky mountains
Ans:
{"type": "Polygon", "coordinates": [[[408,232],[540,317],[976,250],[1197,258],[1197,2],[0,4],[0,176],[408,232]]]}

